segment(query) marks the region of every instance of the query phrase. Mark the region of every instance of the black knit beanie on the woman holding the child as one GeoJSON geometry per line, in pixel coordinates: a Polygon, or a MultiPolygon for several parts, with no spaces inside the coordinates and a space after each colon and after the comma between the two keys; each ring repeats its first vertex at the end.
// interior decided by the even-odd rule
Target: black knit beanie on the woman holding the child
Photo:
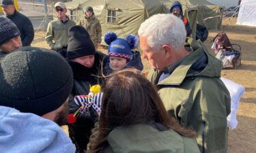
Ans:
{"type": "Polygon", "coordinates": [[[95,47],[89,33],[84,27],[74,26],[68,31],[68,52],[69,59],[88,56],[96,53],[95,47]]]}

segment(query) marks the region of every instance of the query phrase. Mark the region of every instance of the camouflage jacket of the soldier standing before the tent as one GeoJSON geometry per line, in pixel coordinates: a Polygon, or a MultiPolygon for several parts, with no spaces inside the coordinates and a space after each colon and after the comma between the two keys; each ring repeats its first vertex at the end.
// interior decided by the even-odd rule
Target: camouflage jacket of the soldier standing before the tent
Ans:
{"type": "Polygon", "coordinates": [[[87,15],[83,16],[79,20],[78,25],[86,29],[91,37],[91,41],[94,43],[94,46],[97,46],[97,44],[101,43],[102,31],[100,27],[100,21],[94,14],[90,17],[87,15]]]}

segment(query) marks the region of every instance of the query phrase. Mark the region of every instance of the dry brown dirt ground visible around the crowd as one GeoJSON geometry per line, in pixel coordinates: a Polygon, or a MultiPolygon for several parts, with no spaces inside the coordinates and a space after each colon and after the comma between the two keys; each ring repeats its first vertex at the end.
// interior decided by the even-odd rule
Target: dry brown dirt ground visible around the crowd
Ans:
{"type": "MultiPolygon", "coordinates": [[[[222,76],[245,87],[244,97],[238,108],[238,127],[229,130],[229,153],[256,152],[256,27],[236,25],[236,18],[224,18],[225,31],[232,44],[242,47],[242,65],[237,69],[224,69],[222,76]]],[[[212,39],[221,31],[210,31],[205,46],[210,50],[212,39]]],[[[48,48],[44,41],[44,32],[35,34],[32,46],[48,48]]],[[[100,48],[106,52],[103,48],[100,48]]],[[[149,69],[143,60],[145,69],[149,69]]],[[[66,127],[63,127],[67,131],[66,127]]]]}

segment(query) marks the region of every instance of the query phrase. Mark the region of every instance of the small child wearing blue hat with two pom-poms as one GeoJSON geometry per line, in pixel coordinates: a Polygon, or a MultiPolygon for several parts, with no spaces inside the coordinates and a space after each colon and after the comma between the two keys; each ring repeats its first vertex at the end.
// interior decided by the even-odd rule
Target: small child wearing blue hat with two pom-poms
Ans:
{"type": "Polygon", "coordinates": [[[109,32],[106,33],[104,41],[109,45],[109,58],[106,60],[104,75],[127,67],[143,69],[141,54],[138,51],[132,51],[139,44],[139,38],[136,35],[131,34],[126,39],[122,39],[117,38],[115,33],[109,32]]]}

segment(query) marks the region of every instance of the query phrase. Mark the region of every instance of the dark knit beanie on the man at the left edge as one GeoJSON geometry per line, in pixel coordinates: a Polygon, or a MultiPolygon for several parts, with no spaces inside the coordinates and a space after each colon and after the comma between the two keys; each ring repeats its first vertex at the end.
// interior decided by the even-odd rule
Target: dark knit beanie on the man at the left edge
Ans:
{"type": "Polygon", "coordinates": [[[0,17],[0,46],[18,35],[20,35],[20,31],[16,24],[9,18],[0,17]]]}

